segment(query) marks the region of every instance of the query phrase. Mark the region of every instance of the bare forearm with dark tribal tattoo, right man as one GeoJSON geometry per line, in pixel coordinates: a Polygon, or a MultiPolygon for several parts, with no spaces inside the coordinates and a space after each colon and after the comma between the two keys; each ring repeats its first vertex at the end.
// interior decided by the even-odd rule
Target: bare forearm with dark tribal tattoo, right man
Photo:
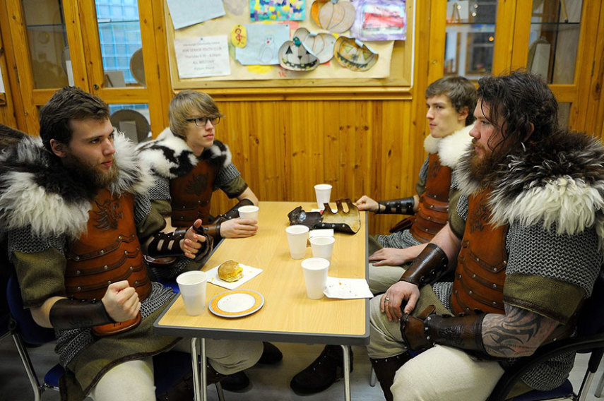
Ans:
{"type": "Polygon", "coordinates": [[[509,305],[505,309],[504,315],[490,313],[482,321],[482,342],[485,350],[494,357],[533,354],[558,324],[526,309],[509,305]]]}

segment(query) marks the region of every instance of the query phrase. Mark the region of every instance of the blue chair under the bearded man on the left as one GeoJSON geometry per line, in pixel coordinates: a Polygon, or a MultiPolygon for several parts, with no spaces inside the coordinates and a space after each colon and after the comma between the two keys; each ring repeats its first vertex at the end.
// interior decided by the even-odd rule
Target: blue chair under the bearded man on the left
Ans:
{"type": "MultiPolygon", "coordinates": [[[[34,400],[40,401],[45,390],[59,390],[59,379],[63,376],[64,369],[63,366],[56,364],[45,374],[43,383],[40,383],[26,345],[42,345],[54,341],[54,330],[37,325],[30,310],[23,309],[23,299],[15,275],[8,279],[6,298],[11,311],[9,330],[21,361],[23,361],[23,366],[25,366],[25,372],[34,392],[34,400]]],[[[153,357],[153,366],[155,368],[155,393],[160,395],[172,388],[186,373],[191,371],[191,355],[178,351],[158,354],[153,357]]],[[[216,390],[219,400],[223,401],[224,394],[220,383],[216,383],[216,390]]]]}

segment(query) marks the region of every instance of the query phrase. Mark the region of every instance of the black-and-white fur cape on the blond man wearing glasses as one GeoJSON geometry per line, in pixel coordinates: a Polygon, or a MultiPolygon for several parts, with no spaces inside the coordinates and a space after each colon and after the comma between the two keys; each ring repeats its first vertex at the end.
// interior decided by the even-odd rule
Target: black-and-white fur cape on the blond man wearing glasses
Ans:
{"type": "Polygon", "coordinates": [[[232,160],[229,147],[220,140],[214,140],[210,148],[206,148],[201,155],[196,157],[184,139],[175,136],[170,128],[165,128],[162,133],[148,143],[138,147],[141,157],[150,164],[154,172],[167,179],[184,176],[196,166],[200,160],[226,167],[232,160]]]}

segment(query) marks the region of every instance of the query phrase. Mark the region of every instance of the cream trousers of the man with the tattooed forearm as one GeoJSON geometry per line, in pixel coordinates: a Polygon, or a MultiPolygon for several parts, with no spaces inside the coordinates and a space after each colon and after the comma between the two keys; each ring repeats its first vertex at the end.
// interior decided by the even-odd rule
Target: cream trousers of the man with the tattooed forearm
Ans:
{"type": "MultiPolygon", "coordinates": [[[[382,359],[407,350],[398,321],[391,322],[379,310],[379,299],[369,302],[370,339],[367,354],[382,359]]],[[[413,313],[428,305],[439,314],[451,314],[440,303],[432,287],[422,287],[420,300],[413,313]]],[[[396,371],[391,391],[394,400],[486,400],[504,370],[497,361],[470,357],[461,349],[437,345],[417,355],[396,371]]]]}

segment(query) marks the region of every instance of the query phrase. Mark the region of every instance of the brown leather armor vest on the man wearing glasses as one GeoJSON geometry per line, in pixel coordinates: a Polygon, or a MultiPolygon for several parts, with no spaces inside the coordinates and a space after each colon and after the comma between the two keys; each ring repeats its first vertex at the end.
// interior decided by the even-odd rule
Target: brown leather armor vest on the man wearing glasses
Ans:
{"type": "Polygon", "coordinates": [[[218,167],[199,161],[188,174],[170,180],[172,226],[191,227],[195,220],[210,222],[210,201],[218,167]]]}

